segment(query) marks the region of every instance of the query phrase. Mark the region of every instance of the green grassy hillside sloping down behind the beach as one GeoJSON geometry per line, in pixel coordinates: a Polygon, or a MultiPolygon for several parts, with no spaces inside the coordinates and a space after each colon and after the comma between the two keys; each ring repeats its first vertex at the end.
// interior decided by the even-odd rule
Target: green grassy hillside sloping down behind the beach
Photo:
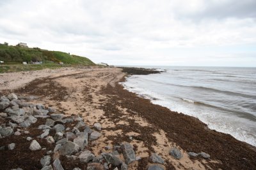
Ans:
{"type": "Polygon", "coordinates": [[[64,64],[81,64],[83,66],[95,65],[92,60],[86,57],[70,55],[65,52],[42,50],[40,48],[26,48],[20,46],[8,46],[0,44],[0,60],[4,64],[21,64],[22,62],[43,62],[64,64]]]}

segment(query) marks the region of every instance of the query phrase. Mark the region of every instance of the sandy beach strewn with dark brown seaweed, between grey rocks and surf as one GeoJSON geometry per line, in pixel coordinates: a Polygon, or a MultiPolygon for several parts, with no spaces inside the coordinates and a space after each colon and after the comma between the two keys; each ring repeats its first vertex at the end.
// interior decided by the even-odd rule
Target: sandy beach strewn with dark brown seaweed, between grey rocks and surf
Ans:
{"type": "MultiPolygon", "coordinates": [[[[129,169],[147,169],[152,164],[149,159],[152,153],[161,155],[165,163],[159,166],[165,169],[256,169],[255,147],[212,131],[194,117],[152,104],[125,90],[118,84],[125,81],[120,69],[70,69],[67,74],[65,71],[53,74],[13,92],[40,96],[36,103],[53,106],[65,115],[79,114],[92,129],[95,122],[100,122],[103,135],[95,146],[89,145],[95,155],[109,152],[104,149],[107,145],[127,141],[141,158],[129,165],[129,169]],[[173,147],[180,149],[182,159],[169,154],[173,147]],[[188,152],[205,152],[211,158],[189,157],[188,152]]],[[[7,94],[10,89],[0,92],[7,94]]],[[[60,160],[67,166],[63,163],[66,159],[60,157],[60,160]]]]}

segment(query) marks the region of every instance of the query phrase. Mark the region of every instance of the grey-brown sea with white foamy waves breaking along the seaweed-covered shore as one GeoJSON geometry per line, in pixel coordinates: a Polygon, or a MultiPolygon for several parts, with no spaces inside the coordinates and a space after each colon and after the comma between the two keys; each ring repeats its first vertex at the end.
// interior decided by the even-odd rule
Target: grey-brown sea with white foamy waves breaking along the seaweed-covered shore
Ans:
{"type": "Polygon", "coordinates": [[[125,89],[256,146],[256,67],[138,67],[164,72],[129,76],[125,89]]]}

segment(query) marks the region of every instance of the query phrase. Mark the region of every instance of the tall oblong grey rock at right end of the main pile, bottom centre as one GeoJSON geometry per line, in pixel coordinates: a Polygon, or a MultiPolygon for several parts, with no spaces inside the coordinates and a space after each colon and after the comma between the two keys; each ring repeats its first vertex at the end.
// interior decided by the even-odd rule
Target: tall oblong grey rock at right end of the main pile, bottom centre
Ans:
{"type": "Polygon", "coordinates": [[[121,149],[123,151],[124,159],[126,164],[131,164],[136,158],[135,152],[130,143],[124,142],[121,145],[121,149]]]}

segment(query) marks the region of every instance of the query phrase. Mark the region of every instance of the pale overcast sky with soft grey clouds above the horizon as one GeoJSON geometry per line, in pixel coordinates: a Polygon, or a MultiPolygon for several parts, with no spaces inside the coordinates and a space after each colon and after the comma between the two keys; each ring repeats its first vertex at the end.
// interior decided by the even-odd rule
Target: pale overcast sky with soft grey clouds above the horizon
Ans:
{"type": "Polygon", "coordinates": [[[95,63],[256,67],[255,0],[0,0],[0,43],[95,63]]]}

